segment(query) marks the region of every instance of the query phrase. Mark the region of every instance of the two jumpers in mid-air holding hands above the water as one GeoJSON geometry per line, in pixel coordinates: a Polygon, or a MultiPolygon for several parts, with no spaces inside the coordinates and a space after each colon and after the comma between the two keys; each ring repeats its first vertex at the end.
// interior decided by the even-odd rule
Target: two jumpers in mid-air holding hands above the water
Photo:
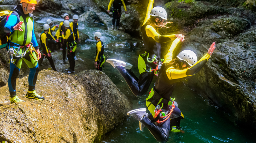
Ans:
{"type": "Polygon", "coordinates": [[[180,120],[184,118],[174,101],[175,98],[171,98],[172,92],[177,82],[195,75],[205,65],[215,49],[215,43],[199,61],[196,54],[190,50],[184,50],[175,57],[173,52],[176,46],[185,40],[184,36],[182,34],[163,36],[157,32],[157,29],[166,27],[170,22],[167,22],[166,10],[159,6],[153,8],[153,3],[154,0],[149,0],[146,17],[141,27],[146,51],[139,55],[139,78],[133,74],[130,63],[116,59],[106,61],[119,71],[130,90],[138,97],[148,91],[153,77],[157,76],[155,85],[146,98],[150,113],[146,112],[146,108],[139,108],[129,111],[127,115],[139,120],[140,130],[147,127],[158,142],[165,143],[168,141],[169,131],[181,131],[180,120]],[[161,57],[161,43],[170,41],[173,42],[168,52],[161,57]]]}

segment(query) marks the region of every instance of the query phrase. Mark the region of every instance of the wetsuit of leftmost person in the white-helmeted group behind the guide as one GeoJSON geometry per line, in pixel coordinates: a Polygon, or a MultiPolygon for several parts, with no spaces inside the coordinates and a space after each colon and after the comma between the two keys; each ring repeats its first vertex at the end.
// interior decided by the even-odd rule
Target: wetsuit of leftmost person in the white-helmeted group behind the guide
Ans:
{"type": "MultiPolygon", "coordinates": [[[[49,36],[49,34],[48,34],[49,36]]],[[[42,47],[42,57],[41,59],[39,59],[39,65],[41,65],[43,59],[46,57],[48,59],[48,61],[50,62],[50,66],[53,68],[53,70],[57,71],[53,62],[53,58],[52,55],[50,54],[50,51],[47,48],[47,45],[49,45],[48,43],[48,37],[47,34],[45,32],[42,32],[41,36],[40,36],[40,42],[41,42],[41,47],[42,47]],[[50,54],[50,57],[48,56],[48,53],[50,54]]]]}

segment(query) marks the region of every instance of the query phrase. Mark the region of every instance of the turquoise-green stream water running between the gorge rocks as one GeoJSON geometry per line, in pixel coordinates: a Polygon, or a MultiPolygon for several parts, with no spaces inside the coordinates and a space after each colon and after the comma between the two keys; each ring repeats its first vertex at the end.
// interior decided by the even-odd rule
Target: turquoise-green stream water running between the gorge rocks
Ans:
{"type": "MultiPolygon", "coordinates": [[[[57,21],[58,19],[52,18],[57,21]]],[[[38,21],[43,22],[43,20],[38,21]]],[[[131,50],[125,47],[124,40],[126,37],[122,35],[115,36],[108,32],[107,28],[99,24],[88,24],[79,22],[79,29],[86,33],[91,39],[85,43],[79,43],[76,56],[86,62],[86,67],[94,68],[94,56],[96,41],[93,40],[93,34],[100,31],[103,35],[101,40],[105,44],[105,56],[107,59],[119,59],[129,62],[133,65],[133,72],[139,76],[137,69],[137,57],[143,53],[143,48],[131,50]]],[[[141,42],[140,39],[130,39],[132,42],[141,42]]],[[[129,90],[126,82],[123,80],[119,72],[109,63],[105,63],[103,72],[117,85],[117,87],[129,98],[133,103],[133,109],[146,108],[144,103],[147,95],[135,97],[129,90]]],[[[151,84],[153,87],[155,78],[151,84]]],[[[247,128],[241,128],[235,125],[231,116],[217,107],[212,106],[208,101],[200,95],[190,90],[182,82],[178,83],[173,92],[178,107],[184,114],[181,120],[181,127],[184,133],[170,132],[168,143],[255,143],[255,131],[249,131],[247,128]]],[[[150,134],[147,128],[140,131],[139,122],[132,117],[128,117],[124,122],[117,126],[113,131],[103,138],[102,143],[156,143],[155,138],[150,134]]]]}

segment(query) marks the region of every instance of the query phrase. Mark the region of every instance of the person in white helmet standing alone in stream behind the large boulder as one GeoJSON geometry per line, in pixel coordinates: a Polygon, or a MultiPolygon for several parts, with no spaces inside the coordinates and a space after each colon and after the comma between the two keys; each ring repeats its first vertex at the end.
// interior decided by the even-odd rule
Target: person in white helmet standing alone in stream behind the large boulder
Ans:
{"type": "Polygon", "coordinates": [[[94,39],[97,41],[96,44],[96,58],[94,61],[94,67],[97,70],[102,71],[102,66],[103,63],[105,62],[105,55],[104,55],[104,43],[100,40],[101,38],[101,33],[100,32],[95,32],[94,33],[94,39]]]}

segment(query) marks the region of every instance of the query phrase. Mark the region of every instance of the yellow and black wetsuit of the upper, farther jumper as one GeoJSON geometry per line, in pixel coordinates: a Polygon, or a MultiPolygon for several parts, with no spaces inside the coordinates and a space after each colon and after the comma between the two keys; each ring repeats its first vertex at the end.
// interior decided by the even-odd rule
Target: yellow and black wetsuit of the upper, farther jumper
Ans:
{"type": "Polygon", "coordinates": [[[154,69],[156,70],[157,68],[161,68],[162,61],[160,60],[160,43],[166,43],[175,39],[175,35],[161,36],[156,32],[154,27],[147,23],[150,18],[150,11],[153,8],[153,2],[153,0],[149,0],[147,14],[141,27],[146,52],[145,54],[140,54],[138,59],[138,68],[140,71],[139,79],[131,70],[126,70],[121,66],[116,67],[135,96],[142,96],[148,91],[149,85],[155,74],[154,69]]]}

